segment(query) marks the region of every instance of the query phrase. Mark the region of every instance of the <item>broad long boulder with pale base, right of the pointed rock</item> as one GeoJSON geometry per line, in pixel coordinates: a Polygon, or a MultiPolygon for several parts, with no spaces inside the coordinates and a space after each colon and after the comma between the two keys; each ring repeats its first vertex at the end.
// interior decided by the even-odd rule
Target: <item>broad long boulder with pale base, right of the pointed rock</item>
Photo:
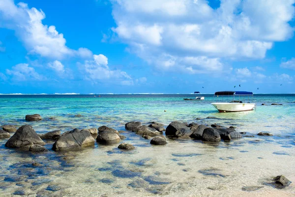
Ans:
{"type": "Polygon", "coordinates": [[[74,129],[65,132],[53,144],[55,151],[79,150],[84,147],[94,146],[94,139],[89,131],[74,129]]]}

